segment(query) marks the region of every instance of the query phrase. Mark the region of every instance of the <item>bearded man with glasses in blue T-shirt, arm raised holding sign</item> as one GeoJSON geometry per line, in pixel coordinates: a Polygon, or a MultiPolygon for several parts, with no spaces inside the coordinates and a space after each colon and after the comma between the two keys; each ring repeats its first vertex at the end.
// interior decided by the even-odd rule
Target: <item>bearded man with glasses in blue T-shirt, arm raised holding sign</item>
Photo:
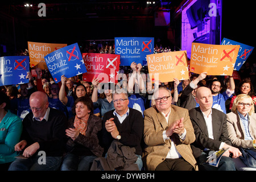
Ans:
{"type": "MultiPolygon", "coordinates": [[[[225,102],[226,102],[226,100],[228,100],[230,97],[233,96],[234,89],[236,88],[233,76],[230,76],[229,78],[230,78],[230,88],[226,89],[222,93],[220,93],[222,86],[221,86],[221,82],[219,80],[213,80],[209,86],[210,90],[212,91],[212,95],[213,95],[212,107],[222,111],[225,114],[226,114],[225,102]]],[[[197,104],[197,106],[199,106],[199,104],[197,104]]]]}

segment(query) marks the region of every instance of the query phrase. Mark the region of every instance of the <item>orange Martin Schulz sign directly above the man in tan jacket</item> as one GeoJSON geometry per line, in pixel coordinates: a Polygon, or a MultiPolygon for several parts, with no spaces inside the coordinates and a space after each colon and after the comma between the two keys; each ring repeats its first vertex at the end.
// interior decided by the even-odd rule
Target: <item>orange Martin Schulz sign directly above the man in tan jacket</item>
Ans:
{"type": "Polygon", "coordinates": [[[187,51],[164,52],[147,55],[148,73],[152,82],[188,79],[187,51]]]}

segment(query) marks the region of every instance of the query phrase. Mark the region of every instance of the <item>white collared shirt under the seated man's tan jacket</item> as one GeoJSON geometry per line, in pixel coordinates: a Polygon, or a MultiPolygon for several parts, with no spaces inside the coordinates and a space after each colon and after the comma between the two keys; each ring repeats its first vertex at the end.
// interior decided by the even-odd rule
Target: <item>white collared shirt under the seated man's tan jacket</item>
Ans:
{"type": "MultiPolygon", "coordinates": [[[[164,114],[164,113],[162,113],[162,114],[164,115],[164,117],[166,118],[166,122],[168,123],[168,120],[169,120],[169,117],[170,117],[170,114],[171,114],[171,109],[170,109],[170,111],[169,111],[168,114],[164,114]]],[[[187,134],[187,131],[186,131],[186,129],[184,129],[184,133],[183,133],[182,135],[179,135],[179,137],[180,137],[182,140],[184,140],[185,137],[186,137],[186,134],[187,134]]],[[[170,139],[170,138],[167,137],[167,135],[166,135],[166,130],[163,131],[163,139],[164,139],[164,140],[170,139]]],[[[175,144],[174,144],[174,141],[172,141],[172,139],[171,139],[171,149],[170,149],[170,151],[168,152],[166,158],[167,158],[167,159],[177,159],[177,158],[181,158],[181,155],[180,155],[180,153],[177,151],[177,149],[176,149],[176,147],[175,147],[175,144]]]]}

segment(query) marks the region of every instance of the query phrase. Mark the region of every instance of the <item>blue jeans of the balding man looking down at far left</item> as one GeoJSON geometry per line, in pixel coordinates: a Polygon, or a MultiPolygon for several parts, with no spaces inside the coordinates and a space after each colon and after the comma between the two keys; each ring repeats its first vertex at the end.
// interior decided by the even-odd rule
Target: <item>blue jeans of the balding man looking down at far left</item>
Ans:
{"type": "Polygon", "coordinates": [[[28,159],[15,159],[9,171],[57,171],[61,164],[61,156],[46,156],[46,164],[40,164],[40,156],[28,159]],[[39,161],[38,161],[39,160],[39,161]]]}

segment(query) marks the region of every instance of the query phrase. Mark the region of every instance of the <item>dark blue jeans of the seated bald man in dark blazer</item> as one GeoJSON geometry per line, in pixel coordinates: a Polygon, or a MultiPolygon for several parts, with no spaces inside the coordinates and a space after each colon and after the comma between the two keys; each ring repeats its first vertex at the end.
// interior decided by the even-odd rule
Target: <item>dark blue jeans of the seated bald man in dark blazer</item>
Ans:
{"type": "Polygon", "coordinates": [[[218,163],[218,167],[210,166],[209,164],[205,164],[207,161],[207,157],[209,156],[209,151],[204,151],[199,156],[197,161],[199,162],[199,170],[200,171],[236,171],[236,167],[232,158],[222,156],[220,162],[218,163]]]}

